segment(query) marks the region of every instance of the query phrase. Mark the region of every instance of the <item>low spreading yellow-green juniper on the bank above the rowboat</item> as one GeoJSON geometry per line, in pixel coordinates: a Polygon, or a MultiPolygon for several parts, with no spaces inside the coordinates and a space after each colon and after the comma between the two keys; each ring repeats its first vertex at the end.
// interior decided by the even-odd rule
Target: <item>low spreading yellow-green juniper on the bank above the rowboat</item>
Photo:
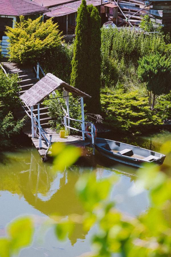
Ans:
{"type": "Polygon", "coordinates": [[[105,123],[114,130],[144,132],[162,124],[160,115],[148,107],[148,97],[139,91],[125,93],[122,88],[101,92],[101,105],[105,123]]]}

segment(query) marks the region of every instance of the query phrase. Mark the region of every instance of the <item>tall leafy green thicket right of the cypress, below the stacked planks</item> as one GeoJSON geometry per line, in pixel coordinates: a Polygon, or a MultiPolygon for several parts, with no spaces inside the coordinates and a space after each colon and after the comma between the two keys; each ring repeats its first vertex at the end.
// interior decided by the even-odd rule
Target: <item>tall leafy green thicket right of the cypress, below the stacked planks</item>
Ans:
{"type": "MultiPolygon", "coordinates": [[[[166,37],[162,34],[144,34],[121,29],[101,29],[101,80],[102,86],[114,87],[117,83],[139,84],[137,60],[146,54],[166,52],[166,37]],[[133,69],[133,73],[128,72],[133,69]]],[[[170,48],[167,48],[168,55],[170,48]]]]}

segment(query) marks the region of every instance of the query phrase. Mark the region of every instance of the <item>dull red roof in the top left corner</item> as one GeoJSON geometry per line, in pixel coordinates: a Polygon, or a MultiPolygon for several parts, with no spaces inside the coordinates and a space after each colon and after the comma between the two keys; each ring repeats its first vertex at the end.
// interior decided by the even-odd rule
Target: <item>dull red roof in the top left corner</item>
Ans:
{"type": "Polygon", "coordinates": [[[0,0],[0,15],[20,16],[47,11],[47,8],[30,0],[0,0]]]}

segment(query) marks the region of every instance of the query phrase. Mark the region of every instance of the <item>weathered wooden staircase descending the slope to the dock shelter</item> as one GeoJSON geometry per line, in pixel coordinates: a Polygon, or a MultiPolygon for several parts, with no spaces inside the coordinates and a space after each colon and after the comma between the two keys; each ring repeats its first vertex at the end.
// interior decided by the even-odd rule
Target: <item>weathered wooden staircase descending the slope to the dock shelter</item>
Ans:
{"type": "MultiPolygon", "coordinates": [[[[38,81],[33,68],[29,68],[29,67],[21,68],[15,63],[8,63],[8,62],[4,62],[3,67],[6,70],[6,72],[9,74],[17,74],[18,73],[19,79],[20,79],[20,81],[18,82],[20,95],[25,93],[28,89],[30,89],[30,87],[32,87],[38,81]]],[[[24,106],[24,107],[27,109],[26,106],[24,106]]],[[[28,113],[30,114],[30,111],[28,111],[28,113]]],[[[21,119],[26,115],[23,107],[20,107],[17,110],[15,110],[15,114],[18,119],[21,119]]],[[[37,109],[34,109],[34,114],[37,117],[37,109]]],[[[51,117],[49,117],[48,107],[45,107],[42,103],[40,103],[40,125],[42,126],[42,128],[49,127],[48,121],[50,119],[51,119],[51,117]]],[[[24,131],[27,131],[27,130],[29,130],[29,131],[31,130],[31,120],[30,119],[28,119],[28,121],[24,127],[24,131]]]]}

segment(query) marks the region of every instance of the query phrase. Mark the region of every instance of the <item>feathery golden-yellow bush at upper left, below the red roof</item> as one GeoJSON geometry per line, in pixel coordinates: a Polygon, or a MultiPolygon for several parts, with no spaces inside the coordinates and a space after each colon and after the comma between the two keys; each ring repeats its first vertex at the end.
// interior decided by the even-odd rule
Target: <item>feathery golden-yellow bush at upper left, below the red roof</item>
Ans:
{"type": "Polygon", "coordinates": [[[35,20],[25,20],[20,16],[20,22],[15,27],[7,27],[9,37],[9,60],[16,63],[36,63],[42,57],[46,58],[49,50],[53,51],[61,43],[62,37],[57,23],[52,19],[41,22],[42,17],[35,20]]]}

